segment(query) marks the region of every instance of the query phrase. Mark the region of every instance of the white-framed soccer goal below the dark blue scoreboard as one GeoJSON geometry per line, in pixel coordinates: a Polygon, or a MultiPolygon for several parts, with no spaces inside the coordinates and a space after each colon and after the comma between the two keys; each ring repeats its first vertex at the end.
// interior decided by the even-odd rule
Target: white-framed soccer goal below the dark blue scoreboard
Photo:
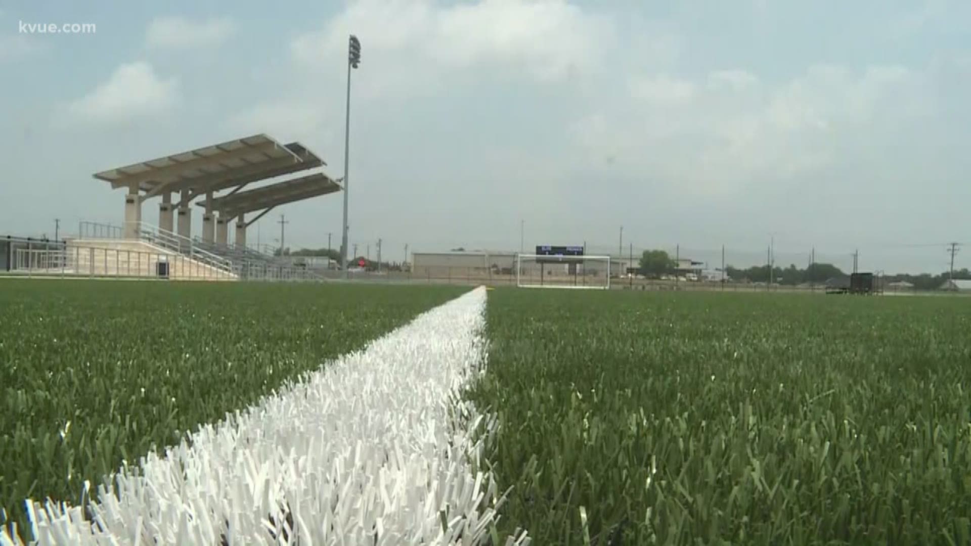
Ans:
{"type": "Polygon", "coordinates": [[[610,256],[516,255],[516,286],[523,289],[609,289],[610,256]]]}

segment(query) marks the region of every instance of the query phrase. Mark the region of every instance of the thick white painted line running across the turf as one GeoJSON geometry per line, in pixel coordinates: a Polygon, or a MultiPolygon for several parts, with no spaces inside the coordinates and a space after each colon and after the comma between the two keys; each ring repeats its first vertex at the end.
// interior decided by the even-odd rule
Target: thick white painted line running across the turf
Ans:
{"type": "Polygon", "coordinates": [[[479,544],[500,495],[472,436],[495,423],[459,396],[484,326],[479,288],[122,469],[90,504],[100,529],[35,503],[39,543],[479,544]]]}

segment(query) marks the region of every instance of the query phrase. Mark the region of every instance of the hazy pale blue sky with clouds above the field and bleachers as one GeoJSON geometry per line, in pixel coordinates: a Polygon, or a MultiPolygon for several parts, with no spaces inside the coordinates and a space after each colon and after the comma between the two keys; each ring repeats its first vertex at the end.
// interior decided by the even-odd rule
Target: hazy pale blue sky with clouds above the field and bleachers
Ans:
{"type": "MultiPolygon", "coordinates": [[[[971,243],[969,31],[956,0],[0,0],[0,234],[119,224],[93,173],[251,134],[342,176],[353,33],[358,254],[772,245],[938,272],[971,243]]],[[[340,194],[250,242],[279,214],[287,246],[339,245],[340,194]]]]}

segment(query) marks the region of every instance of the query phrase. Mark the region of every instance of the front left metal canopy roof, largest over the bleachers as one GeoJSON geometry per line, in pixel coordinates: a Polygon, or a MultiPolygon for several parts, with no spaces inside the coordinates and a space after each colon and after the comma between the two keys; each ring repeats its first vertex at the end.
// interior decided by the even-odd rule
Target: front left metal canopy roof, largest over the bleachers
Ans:
{"type": "MultiPolygon", "coordinates": [[[[300,148],[303,149],[302,146],[300,148]]],[[[174,187],[182,179],[194,179],[196,184],[205,184],[207,178],[281,159],[301,160],[276,140],[258,134],[102,171],[94,178],[110,183],[112,188],[138,185],[138,188],[154,194],[174,187]]]]}

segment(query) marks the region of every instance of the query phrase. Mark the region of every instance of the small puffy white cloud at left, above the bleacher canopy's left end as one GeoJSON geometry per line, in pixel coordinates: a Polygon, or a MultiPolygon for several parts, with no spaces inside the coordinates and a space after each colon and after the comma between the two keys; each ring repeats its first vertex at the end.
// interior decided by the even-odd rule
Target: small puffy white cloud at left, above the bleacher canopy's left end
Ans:
{"type": "Polygon", "coordinates": [[[175,104],[178,88],[175,78],[159,78],[148,63],[122,64],[107,82],[72,102],[68,111],[77,119],[104,122],[156,115],[175,104]]]}

